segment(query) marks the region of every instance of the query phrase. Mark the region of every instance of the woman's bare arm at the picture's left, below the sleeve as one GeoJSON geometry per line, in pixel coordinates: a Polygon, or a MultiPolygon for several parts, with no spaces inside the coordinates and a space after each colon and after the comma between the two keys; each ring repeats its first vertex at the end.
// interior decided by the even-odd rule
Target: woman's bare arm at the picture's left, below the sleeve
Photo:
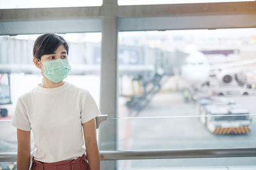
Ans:
{"type": "Polygon", "coordinates": [[[30,166],[30,131],[17,129],[18,157],[17,170],[28,170],[30,166]]]}

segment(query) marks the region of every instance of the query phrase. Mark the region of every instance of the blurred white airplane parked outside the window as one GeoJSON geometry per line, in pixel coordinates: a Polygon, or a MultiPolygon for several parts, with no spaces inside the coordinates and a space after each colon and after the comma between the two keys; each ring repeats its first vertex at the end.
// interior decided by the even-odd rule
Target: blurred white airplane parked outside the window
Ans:
{"type": "MultiPolygon", "coordinates": [[[[223,50],[222,52],[225,53],[223,50]]],[[[209,60],[204,53],[198,50],[191,52],[190,50],[180,68],[180,76],[182,80],[186,81],[187,85],[183,91],[184,102],[188,103],[191,99],[198,99],[200,95],[196,92],[202,91],[202,87],[205,85],[210,87],[212,83],[210,78],[211,80],[213,78],[213,80],[217,81],[218,85],[217,88],[211,87],[211,89],[208,89],[212,90],[212,94],[218,94],[218,96],[224,96],[224,94],[254,94],[251,92],[252,90],[246,90],[244,88],[239,89],[239,86],[244,87],[244,85],[246,85],[247,80],[244,81],[246,76],[245,74],[239,74],[241,70],[237,69],[237,67],[248,64],[256,64],[256,59],[239,60],[223,64],[209,64],[209,60]],[[235,67],[236,69],[230,71],[231,67],[235,67]]],[[[253,85],[248,85],[246,88],[247,87],[253,87],[253,85]]]]}

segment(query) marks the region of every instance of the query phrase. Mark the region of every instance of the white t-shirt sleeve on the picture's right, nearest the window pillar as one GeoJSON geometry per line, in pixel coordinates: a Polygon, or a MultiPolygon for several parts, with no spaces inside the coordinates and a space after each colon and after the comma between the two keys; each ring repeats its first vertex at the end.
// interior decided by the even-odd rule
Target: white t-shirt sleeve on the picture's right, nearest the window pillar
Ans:
{"type": "Polygon", "coordinates": [[[86,90],[85,96],[82,97],[82,100],[81,120],[82,124],[84,124],[85,122],[88,122],[100,115],[100,110],[88,90],[86,90]]]}

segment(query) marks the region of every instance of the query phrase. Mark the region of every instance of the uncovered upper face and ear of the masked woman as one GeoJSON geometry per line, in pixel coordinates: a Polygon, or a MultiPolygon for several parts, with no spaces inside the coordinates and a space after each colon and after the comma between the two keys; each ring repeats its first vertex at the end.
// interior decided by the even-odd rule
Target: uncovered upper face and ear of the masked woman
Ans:
{"type": "MultiPolygon", "coordinates": [[[[67,57],[68,57],[67,50],[65,49],[65,47],[63,45],[60,45],[60,46],[58,46],[58,48],[56,49],[56,51],[54,53],[42,55],[41,61],[45,62],[47,60],[67,59],[67,57]]],[[[42,73],[44,73],[43,64],[41,62],[39,62],[38,64],[40,66],[39,68],[41,69],[42,73]]]]}

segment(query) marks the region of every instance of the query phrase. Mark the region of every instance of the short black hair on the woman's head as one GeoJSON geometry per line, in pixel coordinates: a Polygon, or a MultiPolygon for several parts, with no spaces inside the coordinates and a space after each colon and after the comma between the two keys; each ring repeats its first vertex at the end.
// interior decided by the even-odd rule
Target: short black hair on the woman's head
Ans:
{"type": "Polygon", "coordinates": [[[41,60],[42,55],[54,53],[57,48],[63,45],[68,54],[68,43],[57,34],[47,33],[39,36],[33,47],[33,56],[41,60]]]}

